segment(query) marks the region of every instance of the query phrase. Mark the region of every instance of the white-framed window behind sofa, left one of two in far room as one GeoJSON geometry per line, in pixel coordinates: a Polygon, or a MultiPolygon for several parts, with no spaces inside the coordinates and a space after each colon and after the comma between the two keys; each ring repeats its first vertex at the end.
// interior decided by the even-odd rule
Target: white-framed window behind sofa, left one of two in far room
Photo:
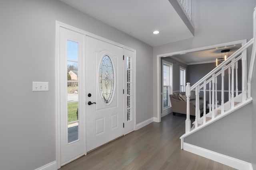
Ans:
{"type": "Polygon", "coordinates": [[[162,64],[162,106],[166,109],[170,106],[169,94],[171,92],[172,86],[172,64],[168,62],[163,62],[162,64]]]}

